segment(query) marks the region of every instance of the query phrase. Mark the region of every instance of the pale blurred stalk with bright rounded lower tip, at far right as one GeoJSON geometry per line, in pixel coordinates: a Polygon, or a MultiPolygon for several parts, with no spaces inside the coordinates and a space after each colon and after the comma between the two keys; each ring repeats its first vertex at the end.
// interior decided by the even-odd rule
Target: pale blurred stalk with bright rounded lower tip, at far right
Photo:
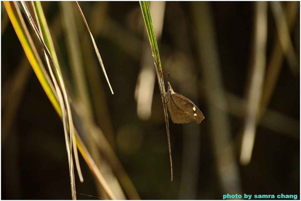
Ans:
{"type": "Polygon", "coordinates": [[[240,163],[243,165],[249,164],[251,160],[266,66],[268,3],[256,2],[255,5],[254,59],[252,62],[250,88],[247,95],[246,119],[240,153],[240,163]]]}

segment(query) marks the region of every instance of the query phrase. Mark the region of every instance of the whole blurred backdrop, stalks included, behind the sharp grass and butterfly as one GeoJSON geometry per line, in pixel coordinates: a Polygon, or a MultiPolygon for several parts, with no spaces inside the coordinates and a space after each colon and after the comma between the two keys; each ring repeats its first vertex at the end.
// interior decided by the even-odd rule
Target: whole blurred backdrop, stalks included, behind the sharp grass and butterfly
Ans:
{"type": "MultiPolygon", "coordinates": [[[[150,2],[166,90],[169,72],[173,90],[205,117],[184,125],[169,117],[172,182],[163,104],[139,2],[79,5],[114,94],[76,6],[42,2],[73,119],[84,130],[81,111],[90,107],[91,121],[141,199],[222,199],[227,193],[300,199],[299,2],[150,2]],[[76,37],[70,40],[67,25],[73,22],[76,37]],[[89,104],[78,98],[76,64],[84,69],[89,104]]],[[[85,132],[80,135],[89,147],[85,132]]],[[[105,149],[97,148],[94,160],[108,160],[105,149]]],[[[76,173],[77,199],[105,198],[79,159],[84,182],[76,173]]],[[[105,164],[104,175],[116,169],[105,164]]],[[[71,198],[63,124],[1,3],[1,199],[71,198]]]]}

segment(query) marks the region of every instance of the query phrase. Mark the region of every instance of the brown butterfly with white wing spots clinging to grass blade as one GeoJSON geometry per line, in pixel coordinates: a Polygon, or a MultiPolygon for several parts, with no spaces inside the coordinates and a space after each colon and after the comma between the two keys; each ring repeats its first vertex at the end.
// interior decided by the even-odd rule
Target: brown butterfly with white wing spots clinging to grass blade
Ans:
{"type": "Polygon", "coordinates": [[[199,124],[203,119],[203,113],[191,100],[175,93],[168,82],[166,102],[173,123],[188,123],[196,121],[199,124]]]}

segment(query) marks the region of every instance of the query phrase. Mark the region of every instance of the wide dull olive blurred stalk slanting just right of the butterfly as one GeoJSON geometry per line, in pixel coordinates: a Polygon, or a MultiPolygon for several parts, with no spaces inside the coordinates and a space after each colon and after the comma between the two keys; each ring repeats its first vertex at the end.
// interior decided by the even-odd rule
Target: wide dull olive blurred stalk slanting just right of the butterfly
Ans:
{"type": "Polygon", "coordinates": [[[211,8],[208,2],[192,2],[192,8],[222,192],[241,193],[241,178],[231,143],[230,122],[225,112],[226,94],[222,84],[211,8]]]}

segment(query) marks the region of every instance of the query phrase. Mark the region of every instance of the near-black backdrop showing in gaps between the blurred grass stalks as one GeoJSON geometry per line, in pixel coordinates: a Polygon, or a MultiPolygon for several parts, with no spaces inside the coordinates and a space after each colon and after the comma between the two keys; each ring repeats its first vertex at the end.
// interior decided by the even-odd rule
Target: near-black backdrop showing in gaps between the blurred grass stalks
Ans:
{"type": "MultiPolygon", "coordinates": [[[[216,31],[222,84],[226,92],[232,93],[240,99],[246,96],[248,72],[252,59],[254,4],[255,2],[209,3],[216,31]]],[[[4,16],[7,14],[3,3],[1,5],[3,25],[4,16]]],[[[286,3],[283,3],[283,6],[285,5],[286,3]]],[[[48,23],[54,24],[55,19],[60,15],[59,4],[42,2],[42,6],[48,23]]],[[[166,126],[157,78],[150,120],[143,121],[137,117],[134,93],[141,66],[143,31],[145,29],[139,2],[80,2],[80,6],[95,37],[114,90],[114,95],[112,95],[101,70],[99,70],[107,99],[107,109],[113,125],[113,136],[109,141],[115,148],[119,160],[132,179],[141,199],[191,199],[190,195],[179,197],[183,161],[183,126],[171,121],[169,121],[169,129],[174,180],[170,181],[166,126]],[[99,15],[104,21],[98,21],[99,15]],[[108,21],[111,24],[97,27],[99,23],[108,23],[108,21]],[[123,35],[124,33],[128,35],[123,35]],[[120,35],[123,38],[117,38],[120,35]],[[127,38],[128,36],[138,41],[137,43],[132,42],[132,44],[138,44],[135,46],[136,49],[131,49],[132,47],[124,46],[126,43],[119,42],[130,41],[132,38],[127,38]],[[128,148],[137,140],[135,135],[123,136],[125,137],[123,138],[124,144],[120,145],[118,135],[122,135],[120,133],[123,133],[125,129],[138,133],[137,136],[141,142],[137,147],[128,148]]],[[[210,119],[207,118],[206,92],[202,86],[203,75],[200,70],[202,66],[200,66],[195,24],[191,13],[191,2],[166,2],[163,34],[159,47],[163,76],[168,80],[167,73],[169,72],[171,81],[173,81],[172,67],[165,69],[167,60],[175,58],[177,53],[189,54],[188,58],[191,58],[191,63],[194,63],[193,74],[196,75],[199,83],[197,85],[199,86],[197,106],[205,117],[198,125],[201,128],[200,158],[198,175],[195,175],[198,182],[194,198],[222,199],[222,195],[227,192],[222,189],[217,173],[216,156],[212,145],[212,125],[210,125],[210,119]],[[175,22],[172,21],[173,17],[186,23],[187,41],[188,47],[191,48],[189,51],[191,54],[181,49],[183,41],[177,41],[175,37],[175,33],[181,33],[183,30],[179,29],[181,25],[175,26],[175,22]]],[[[53,30],[53,32],[55,31],[60,32],[53,30]]],[[[298,14],[291,33],[298,62],[299,33],[298,14]]],[[[275,37],[277,37],[275,22],[270,8],[268,8],[267,59],[270,56],[275,37]]],[[[67,50],[62,33],[57,34],[57,41],[59,47],[56,48],[61,50],[59,60],[67,62],[67,53],[65,52],[67,50]]],[[[23,56],[24,51],[20,41],[9,22],[1,37],[2,97],[7,95],[3,90],[5,83],[23,61],[23,56]]],[[[93,57],[96,61],[96,56],[93,55],[93,57]]],[[[268,109],[278,111],[299,122],[300,77],[292,75],[285,59],[282,65],[268,109]]],[[[61,68],[63,67],[61,66],[61,68]]],[[[165,80],[165,86],[167,86],[167,80],[165,80]]],[[[175,92],[180,93],[180,85],[181,83],[174,81],[172,86],[175,92]]],[[[1,199],[71,199],[63,125],[32,70],[30,70],[22,91],[20,105],[17,108],[8,136],[1,143],[1,199]]],[[[286,132],[272,130],[259,124],[256,129],[251,162],[247,166],[242,166],[239,164],[241,144],[239,130],[244,125],[244,119],[233,114],[229,114],[229,119],[235,157],[239,167],[238,175],[241,179],[241,193],[252,195],[297,194],[300,199],[299,128],[295,133],[288,135],[286,132]]],[[[191,122],[191,124],[195,124],[195,122],[191,122]]],[[[285,130],[286,125],[283,126],[285,130]]],[[[105,128],[102,129],[105,130],[105,128]]],[[[80,162],[85,181],[80,183],[77,174],[75,175],[77,192],[98,196],[94,176],[81,156],[80,162]]],[[[77,199],[98,198],[78,194],[77,199]]]]}

